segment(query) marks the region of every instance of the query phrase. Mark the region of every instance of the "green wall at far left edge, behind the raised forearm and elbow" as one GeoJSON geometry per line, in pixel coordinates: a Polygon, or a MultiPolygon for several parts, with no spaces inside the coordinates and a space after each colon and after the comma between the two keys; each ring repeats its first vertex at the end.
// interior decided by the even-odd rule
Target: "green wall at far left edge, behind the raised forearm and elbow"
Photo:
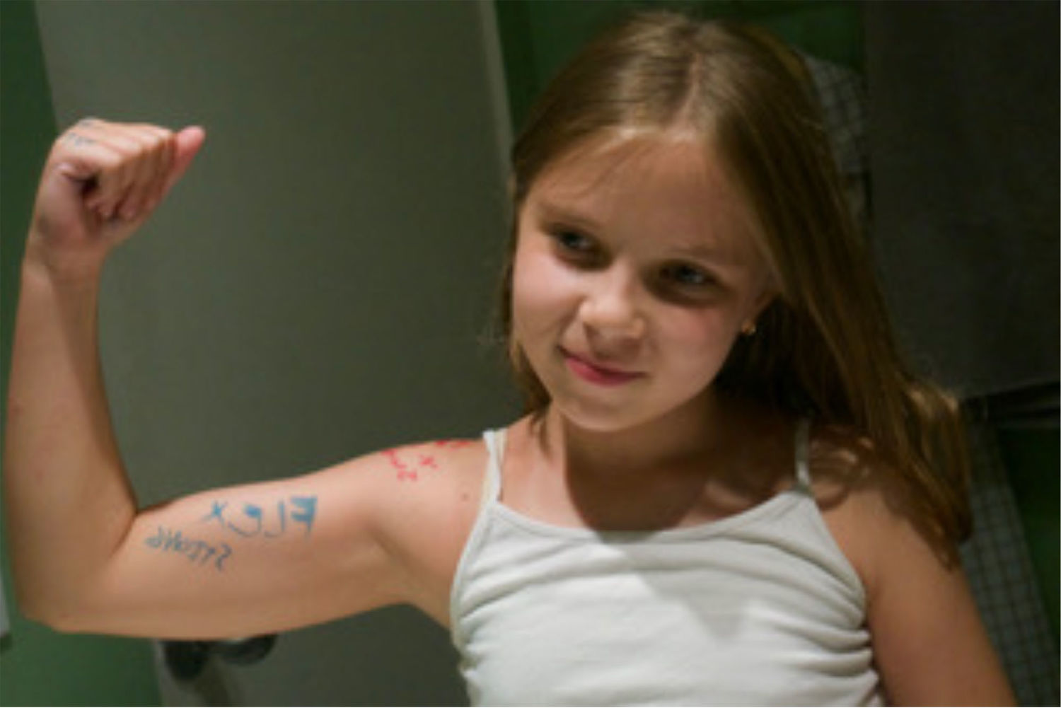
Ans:
{"type": "MultiPolygon", "coordinates": [[[[0,2],[0,398],[6,400],[22,242],[37,175],[55,136],[34,5],[28,0],[0,2]]],[[[159,705],[149,642],[58,635],[19,616],[6,534],[0,540],[11,619],[11,634],[0,641],[0,705],[159,705]]]]}

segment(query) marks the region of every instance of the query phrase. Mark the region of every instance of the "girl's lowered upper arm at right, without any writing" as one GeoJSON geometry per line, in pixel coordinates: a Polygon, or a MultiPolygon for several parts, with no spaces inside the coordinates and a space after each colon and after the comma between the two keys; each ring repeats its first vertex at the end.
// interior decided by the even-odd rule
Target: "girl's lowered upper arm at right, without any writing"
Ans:
{"type": "MultiPolygon", "coordinates": [[[[865,450],[859,471],[869,462],[865,450]]],[[[835,470],[834,470],[835,471],[835,470]]],[[[928,540],[880,468],[837,482],[823,515],[866,588],[874,660],[895,705],[1013,705],[953,549],[928,540]],[[838,491],[839,490],[839,491],[838,491]]]]}

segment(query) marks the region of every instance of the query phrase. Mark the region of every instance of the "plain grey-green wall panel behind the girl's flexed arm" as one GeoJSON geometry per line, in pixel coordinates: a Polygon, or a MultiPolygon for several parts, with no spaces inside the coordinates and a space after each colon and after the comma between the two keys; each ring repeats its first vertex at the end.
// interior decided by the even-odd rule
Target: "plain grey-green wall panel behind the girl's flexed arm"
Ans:
{"type": "MultiPolygon", "coordinates": [[[[515,414],[480,338],[505,239],[489,5],[37,7],[59,125],[208,133],[105,274],[104,365],[142,502],[515,414]]],[[[440,705],[463,700],[453,661],[443,632],[387,610],[163,696],[440,705]]]]}

